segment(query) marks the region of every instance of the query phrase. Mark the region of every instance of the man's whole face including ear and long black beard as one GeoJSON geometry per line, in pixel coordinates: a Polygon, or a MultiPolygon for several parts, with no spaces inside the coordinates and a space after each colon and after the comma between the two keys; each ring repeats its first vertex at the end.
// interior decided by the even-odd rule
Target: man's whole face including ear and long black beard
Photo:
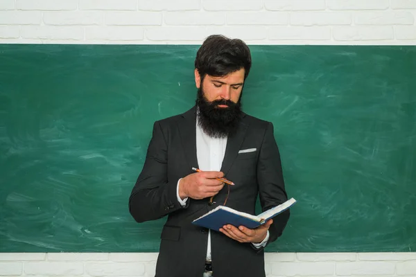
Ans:
{"type": "Polygon", "coordinates": [[[205,75],[202,84],[198,71],[195,75],[198,124],[211,137],[232,136],[236,133],[241,116],[244,69],[220,78],[205,75]]]}

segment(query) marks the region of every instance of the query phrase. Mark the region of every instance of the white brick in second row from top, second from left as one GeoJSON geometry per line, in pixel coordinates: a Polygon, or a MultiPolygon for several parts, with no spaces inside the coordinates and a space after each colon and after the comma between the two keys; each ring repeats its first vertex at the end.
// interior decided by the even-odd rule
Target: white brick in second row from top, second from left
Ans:
{"type": "Polygon", "coordinates": [[[103,25],[101,12],[44,12],[44,24],[55,26],[103,25]]]}

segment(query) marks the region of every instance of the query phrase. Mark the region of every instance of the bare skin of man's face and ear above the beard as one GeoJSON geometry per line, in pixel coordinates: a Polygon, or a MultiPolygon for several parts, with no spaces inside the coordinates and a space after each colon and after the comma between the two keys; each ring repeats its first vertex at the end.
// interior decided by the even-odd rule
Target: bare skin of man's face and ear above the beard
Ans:
{"type": "MultiPolygon", "coordinates": [[[[204,91],[205,99],[208,102],[216,100],[231,100],[236,103],[239,102],[241,91],[244,83],[244,69],[234,71],[223,77],[213,77],[205,75],[201,84],[201,76],[195,70],[196,87],[204,91]]],[[[224,101],[226,102],[226,101],[224,101]]],[[[226,109],[227,105],[216,105],[219,109],[226,109]]]]}

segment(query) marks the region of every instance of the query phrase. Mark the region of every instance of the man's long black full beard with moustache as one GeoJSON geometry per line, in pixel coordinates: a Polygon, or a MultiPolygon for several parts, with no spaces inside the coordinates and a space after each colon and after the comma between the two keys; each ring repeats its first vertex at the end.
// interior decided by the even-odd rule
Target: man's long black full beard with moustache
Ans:
{"type": "Polygon", "coordinates": [[[201,86],[198,89],[196,104],[199,108],[198,125],[205,134],[219,139],[236,133],[241,119],[241,96],[236,103],[225,99],[209,102],[201,86]],[[218,107],[218,105],[228,107],[218,107]]]}

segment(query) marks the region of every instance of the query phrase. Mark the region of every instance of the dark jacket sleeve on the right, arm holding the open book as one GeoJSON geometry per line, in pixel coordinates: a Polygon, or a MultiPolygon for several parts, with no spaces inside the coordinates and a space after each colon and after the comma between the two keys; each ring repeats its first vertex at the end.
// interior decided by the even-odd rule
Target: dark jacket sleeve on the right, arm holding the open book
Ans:
{"type": "MultiPolygon", "coordinates": [[[[267,211],[288,199],[281,169],[279,148],[273,134],[272,123],[268,123],[263,137],[259,163],[257,165],[257,182],[259,184],[259,198],[262,211],[267,211]]],[[[288,209],[273,218],[273,223],[269,228],[270,237],[264,247],[279,238],[286,227],[289,217],[290,211],[288,209]]],[[[255,248],[255,250],[261,251],[264,247],[260,249],[255,248]]]]}

